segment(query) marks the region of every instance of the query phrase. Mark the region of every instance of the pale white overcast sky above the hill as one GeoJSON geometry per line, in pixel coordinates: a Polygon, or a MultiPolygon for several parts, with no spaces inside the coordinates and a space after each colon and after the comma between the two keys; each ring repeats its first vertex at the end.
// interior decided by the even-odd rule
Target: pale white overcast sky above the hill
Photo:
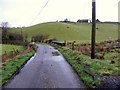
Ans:
{"type": "MultiPolygon", "coordinates": [[[[43,22],[91,19],[92,0],[0,0],[0,22],[11,26],[30,26],[43,22]]],[[[120,0],[96,0],[97,18],[118,21],[120,0]]]]}

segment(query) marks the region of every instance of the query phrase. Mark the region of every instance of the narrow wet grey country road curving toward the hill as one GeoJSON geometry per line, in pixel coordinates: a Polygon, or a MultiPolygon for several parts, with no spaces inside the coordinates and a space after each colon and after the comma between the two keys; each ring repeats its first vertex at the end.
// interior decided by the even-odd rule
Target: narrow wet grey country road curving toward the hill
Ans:
{"type": "Polygon", "coordinates": [[[85,88],[77,74],[51,46],[39,44],[35,57],[29,61],[5,88],[85,88]]]}

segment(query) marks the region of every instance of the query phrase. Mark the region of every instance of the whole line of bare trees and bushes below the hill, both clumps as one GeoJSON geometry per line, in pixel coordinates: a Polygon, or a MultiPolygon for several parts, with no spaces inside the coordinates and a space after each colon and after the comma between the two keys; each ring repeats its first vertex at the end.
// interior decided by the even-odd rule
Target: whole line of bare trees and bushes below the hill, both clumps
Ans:
{"type": "MultiPolygon", "coordinates": [[[[22,32],[11,32],[11,28],[9,27],[8,22],[2,22],[0,28],[2,29],[2,42],[0,43],[28,45],[29,41],[27,40],[27,34],[23,35],[22,32]]],[[[47,40],[48,38],[49,35],[38,34],[31,37],[31,42],[44,42],[44,40],[47,40]]]]}

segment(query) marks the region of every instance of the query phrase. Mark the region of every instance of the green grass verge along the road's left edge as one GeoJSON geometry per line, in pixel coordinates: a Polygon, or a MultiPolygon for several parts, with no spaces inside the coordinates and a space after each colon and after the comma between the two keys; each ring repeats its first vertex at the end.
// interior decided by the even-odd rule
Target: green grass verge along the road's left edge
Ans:
{"type": "Polygon", "coordinates": [[[11,59],[10,61],[3,64],[0,68],[0,79],[1,84],[4,85],[9,81],[9,79],[19,71],[20,68],[33,56],[35,52],[29,52],[17,59],[11,59]]]}

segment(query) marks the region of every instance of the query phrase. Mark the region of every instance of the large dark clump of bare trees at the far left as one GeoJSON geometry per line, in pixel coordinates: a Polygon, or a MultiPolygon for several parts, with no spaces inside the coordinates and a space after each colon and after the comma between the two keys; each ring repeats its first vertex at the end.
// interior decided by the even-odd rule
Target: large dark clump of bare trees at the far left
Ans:
{"type": "Polygon", "coordinates": [[[27,45],[27,41],[25,40],[24,36],[20,33],[12,33],[9,30],[8,22],[1,23],[2,29],[2,42],[3,44],[19,44],[19,45],[27,45]]]}

